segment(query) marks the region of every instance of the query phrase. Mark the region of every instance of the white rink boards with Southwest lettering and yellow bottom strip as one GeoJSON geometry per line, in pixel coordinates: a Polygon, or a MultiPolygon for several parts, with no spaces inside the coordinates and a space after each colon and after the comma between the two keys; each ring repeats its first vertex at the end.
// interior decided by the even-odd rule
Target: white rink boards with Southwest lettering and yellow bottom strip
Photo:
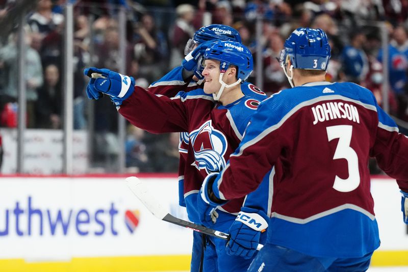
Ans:
{"type": "MultiPolygon", "coordinates": [[[[142,176],[171,214],[175,176],[142,176]]],[[[381,247],[373,266],[408,266],[408,234],[392,179],[373,178],[381,247]]],[[[156,219],[124,177],[0,178],[2,271],[189,270],[192,231],[156,219]]]]}

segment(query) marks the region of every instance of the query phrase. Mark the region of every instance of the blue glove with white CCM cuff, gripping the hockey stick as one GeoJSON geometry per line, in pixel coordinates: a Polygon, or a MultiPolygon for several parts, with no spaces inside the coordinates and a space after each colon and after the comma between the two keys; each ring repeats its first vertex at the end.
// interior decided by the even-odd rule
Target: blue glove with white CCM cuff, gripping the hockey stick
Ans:
{"type": "Polygon", "coordinates": [[[251,258],[257,252],[261,232],[268,227],[268,222],[269,217],[263,211],[242,207],[230,227],[226,253],[251,258]]]}

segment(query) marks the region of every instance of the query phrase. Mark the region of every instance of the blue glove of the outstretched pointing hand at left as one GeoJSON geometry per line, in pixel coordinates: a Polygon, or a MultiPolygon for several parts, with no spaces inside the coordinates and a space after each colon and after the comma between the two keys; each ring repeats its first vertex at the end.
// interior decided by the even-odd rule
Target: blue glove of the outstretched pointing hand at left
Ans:
{"type": "Polygon", "coordinates": [[[86,93],[89,99],[99,99],[103,94],[114,97],[116,105],[131,96],[135,90],[135,79],[109,69],[86,68],[84,74],[89,76],[86,93]]]}

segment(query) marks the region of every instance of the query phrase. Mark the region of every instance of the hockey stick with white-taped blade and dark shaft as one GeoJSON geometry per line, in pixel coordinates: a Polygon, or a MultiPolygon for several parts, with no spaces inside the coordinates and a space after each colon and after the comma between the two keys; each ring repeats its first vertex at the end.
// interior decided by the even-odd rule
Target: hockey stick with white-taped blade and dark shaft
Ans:
{"type": "MultiPolygon", "coordinates": [[[[230,234],[213,230],[204,226],[196,225],[189,221],[177,218],[168,213],[160,203],[149,193],[145,183],[140,181],[137,177],[127,177],[127,186],[131,189],[132,193],[143,203],[144,206],[158,219],[169,222],[171,224],[179,225],[194,231],[198,231],[204,234],[208,234],[224,240],[230,239],[230,234]]],[[[258,244],[257,250],[262,249],[263,245],[258,244]]]]}

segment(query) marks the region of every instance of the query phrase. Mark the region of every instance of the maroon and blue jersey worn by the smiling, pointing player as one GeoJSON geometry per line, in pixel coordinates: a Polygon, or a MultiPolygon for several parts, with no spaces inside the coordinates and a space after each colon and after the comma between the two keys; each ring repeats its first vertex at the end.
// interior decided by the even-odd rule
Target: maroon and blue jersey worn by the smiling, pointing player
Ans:
{"type": "MultiPolygon", "coordinates": [[[[197,222],[196,197],[203,179],[220,172],[238,147],[250,116],[259,104],[244,96],[222,106],[202,89],[179,92],[175,97],[154,95],[140,87],[123,101],[119,113],[133,125],[152,133],[186,132],[183,192],[189,219],[197,222]]],[[[180,180],[180,178],[179,178],[180,180]]],[[[245,196],[222,207],[238,213],[245,196]]]]}

